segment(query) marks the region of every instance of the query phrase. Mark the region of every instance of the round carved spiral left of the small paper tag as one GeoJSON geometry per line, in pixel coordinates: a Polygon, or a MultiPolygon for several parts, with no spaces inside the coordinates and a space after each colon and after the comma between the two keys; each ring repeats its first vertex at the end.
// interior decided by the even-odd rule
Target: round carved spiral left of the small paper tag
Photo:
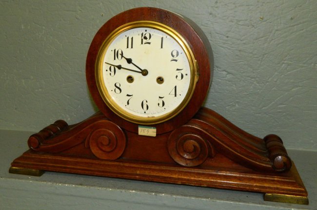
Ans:
{"type": "Polygon", "coordinates": [[[104,128],[94,130],[88,138],[90,150],[100,159],[118,159],[126,145],[123,131],[110,121],[106,121],[104,128]]]}

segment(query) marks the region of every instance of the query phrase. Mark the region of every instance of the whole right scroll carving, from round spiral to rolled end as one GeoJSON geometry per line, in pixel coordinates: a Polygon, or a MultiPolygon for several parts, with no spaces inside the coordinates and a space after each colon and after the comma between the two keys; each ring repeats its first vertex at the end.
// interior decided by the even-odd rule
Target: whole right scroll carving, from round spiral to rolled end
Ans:
{"type": "Polygon", "coordinates": [[[183,166],[198,166],[215,151],[257,171],[285,172],[292,166],[277,135],[260,139],[206,108],[170,135],[168,150],[170,156],[183,166]]]}

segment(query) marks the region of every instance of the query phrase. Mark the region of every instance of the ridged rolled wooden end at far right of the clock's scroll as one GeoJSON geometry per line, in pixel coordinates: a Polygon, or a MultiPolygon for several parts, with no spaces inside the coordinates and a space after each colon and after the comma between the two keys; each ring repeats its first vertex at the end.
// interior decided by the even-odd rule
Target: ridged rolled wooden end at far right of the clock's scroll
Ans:
{"type": "Polygon", "coordinates": [[[282,139],[275,134],[269,134],[264,137],[264,141],[273,169],[278,172],[289,170],[292,166],[292,161],[287,155],[282,139]]]}

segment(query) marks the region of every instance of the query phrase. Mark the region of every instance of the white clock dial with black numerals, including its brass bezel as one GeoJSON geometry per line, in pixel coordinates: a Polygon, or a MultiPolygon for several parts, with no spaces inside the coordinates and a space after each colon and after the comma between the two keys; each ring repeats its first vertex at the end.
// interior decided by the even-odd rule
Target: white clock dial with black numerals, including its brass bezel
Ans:
{"type": "Polygon", "coordinates": [[[117,115],[156,124],[177,115],[198,79],[194,57],[177,32],[150,21],[128,23],[103,43],[96,65],[99,92],[117,115]]]}

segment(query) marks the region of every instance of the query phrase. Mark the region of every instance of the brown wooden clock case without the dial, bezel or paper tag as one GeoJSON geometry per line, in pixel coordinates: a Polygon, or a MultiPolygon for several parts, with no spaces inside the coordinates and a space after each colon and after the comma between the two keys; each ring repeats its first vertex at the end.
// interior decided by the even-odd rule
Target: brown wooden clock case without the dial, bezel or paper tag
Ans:
{"type": "Polygon", "coordinates": [[[87,56],[88,87],[100,112],[75,125],[58,120],[31,135],[30,150],[12,162],[9,172],[67,172],[254,191],[269,201],[308,204],[307,191],[277,135],[258,138],[201,107],[211,70],[210,44],[191,20],[148,7],[120,13],[99,29],[87,56]],[[139,135],[137,124],[114,114],[100,97],[94,76],[105,36],[126,22],[144,19],[169,25],[184,36],[200,74],[188,106],[171,120],[152,125],[156,137],[139,135]]]}

